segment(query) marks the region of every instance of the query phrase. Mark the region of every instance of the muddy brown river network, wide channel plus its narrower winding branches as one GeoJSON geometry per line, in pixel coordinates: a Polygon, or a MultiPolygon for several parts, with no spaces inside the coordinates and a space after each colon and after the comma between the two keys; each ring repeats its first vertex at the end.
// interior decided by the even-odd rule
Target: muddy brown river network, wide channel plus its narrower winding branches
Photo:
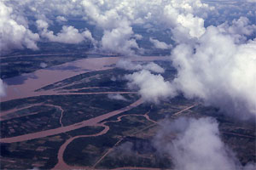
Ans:
{"type": "MultiPolygon", "coordinates": [[[[90,59],[79,59],[73,62],[69,62],[63,65],[56,65],[51,68],[47,69],[41,69],[29,74],[23,74],[20,77],[13,77],[9,79],[3,80],[3,82],[8,84],[7,88],[7,95],[3,98],[1,98],[1,102],[8,101],[11,99],[22,99],[32,96],[39,96],[39,95],[63,95],[63,94],[88,94],[88,95],[96,95],[96,94],[135,94],[135,92],[99,92],[99,93],[57,93],[54,90],[47,90],[47,91],[40,91],[35,92],[38,88],[43,88],[44,86],[47,86],[49,84],[60,82],[63,79],[67,79],[69,77],[74,77],[76,75],[89,72],[89,71],[103,71],[112,69],[113,67],[109,65],[116,64],[119,61],[119,57],[104,57],[104,58],[90,58],[90,59]]],[[[132,61],[153,61],[153,60],[167,60],[168,57],[139,57],[139,58],[131,58],[132,61]]],[[[97,88],[97,87],[95,87],[97,88]]],[[[104,125],[104,123],[100,123],[106,119],[108,119],[111,116],[119,115],[122,112],[129,111],[134,107],[137,107],[138,105],[143,104],[143,99],[138,99],[136,102],[132,103],[131,105],[127,105],[126,107],[119,109],[117,111],[111,111],[107,114],[104,114],[102,116],[96,116],[94,118],[91,118],[89,120],[78,122],[73,125],[69,125],[66,127],[63,127],[61,118],[60,118],[60,124],[61,127],[55,128],[55,129],[49,129],[37,133],[27,133],[20,136],[15,136],[11,138],[4,138],[0,139],[3,143],[14,143],[14,142],[21,142],[31,139],[39,139],[44,138],[47,136],[52,136],[59,133],[66,133],[75,129],[79,129],[81,127],[86,126],[102,126],[104,129],[100,133],[91,134],[91,135],[79,135],[76,137],[73,137],[71,139],[67,139],[67,141],[61,145],[61,148],[58,152],[58,163],[55,165],[54,169],[84,169],[84,167],[71,167],[68,166],[65,161],[63,160],[63,154],[66,150],[66,147],[68,144],[70,144],[74,139],[78,138],[86,138],[86,137],[96,137],[100,136],[104,133],[108,133],[109,127],[104,125]]],[[[37,104],[41,105],[41,104],[37,104]]],[[[27,106],[27,107],[31,107],[27,106]]],[[[63,116],[63,110],[60,106],[51,105],[53,107],[56,107],[61,111],[61,117],[63,116]]],[[[26,108],[22,108],[26,109],[26,108]]],[[[19,109],[18,109],[19,110],[19,109]]],[[[0,116],[6,116],[9,113],[13,111],[18,111],[17,109],[13,109],[10,111],[4,111],[0,114],[0,116]]],[[[139,116],[139,115],[136,115],[139,116]]],[[[148,119],[148,121],[154,122],[151,120],[148,116],[148,114],[144,115],[145,118],[148,119]]],[[[118,117],[119,122],[123,116],[118,117]]],[[[1,118],[1,117],[0,117],[1,118]]],[[[103,159],[104,157],[102,157],[103,159]]],[[[101,161],[101,160],[99,160],[101,161]]],[[[148,167],[127,167],[127,168],[136,168],[136,169],[157,169],[157,168],[148,168],[148,167]]],[[[88,167],[90,169],[90,167],[88,167]]],[[[117,168],[119,169],[119,168],[117,168]]],[[[122,168],[120,168],[122,169],[122,168]]]]}

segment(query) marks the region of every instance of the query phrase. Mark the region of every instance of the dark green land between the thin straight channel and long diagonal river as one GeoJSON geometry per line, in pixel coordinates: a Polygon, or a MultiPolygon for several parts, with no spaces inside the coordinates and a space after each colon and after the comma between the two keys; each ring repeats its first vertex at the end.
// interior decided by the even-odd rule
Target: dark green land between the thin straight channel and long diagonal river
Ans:
{"type": "MultiPolygon", "coordinates": [[[[41,103],[46,105],[61,106],[64,111],[61,122],[64,126],[82,122],[90,118],[101,116],[110,111],[119,110],[130,105],[137,99],[136,94],[125,94],[127,101],[108,99],[108,94],[97,95],[51,95],[39,96],[28,99],[17,99],[3,102],[3,111],[11,106],[27,106],[41,103]],[[20,101],[21,100],[21,101],[20,101]],[[16,105],[17,102],[20,105],[16,105]]],[[[1,138],[18,136],[26,133],[35,133],[56,127],[60,124],[61,111],[55,107],[40,105],[31,109],[17,111],[10,115],[10,119],[1,122],[1,138]],[[31,114],[35,112],[35,114],[31,114]],[[14,118],[11,118],[13,116],[14,118]]]]}

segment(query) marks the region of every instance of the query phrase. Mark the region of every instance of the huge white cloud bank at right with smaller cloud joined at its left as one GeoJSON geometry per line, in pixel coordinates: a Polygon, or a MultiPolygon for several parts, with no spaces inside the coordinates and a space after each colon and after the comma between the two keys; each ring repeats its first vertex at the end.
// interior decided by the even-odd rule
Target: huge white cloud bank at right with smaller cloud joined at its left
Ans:
{"type": "Polygon", "coordinates": [[[195,2],[182,1],[184,4],[181,5],[173,2],[165,6],[163,14],[177,43],[170,57],[177,69],[177,77],[172,82],[165,82],[158,75],[154,84],[143,79],[144,75],[151,78],[154,74],[149,76],[150,72],[139,71],[128,76],[131,84],[140,88],[139,92],[148,97],[148,101],[159,101],[160,96],[166,99],[168,94],[171,98],[183,94],[188,99],[201,99],[206,105],[214,105],[242,120],[255,117],[256,40],[247,40],[247,37],[253,36],[256,26],[241,17],[233,20],[231,25],[224,23],[205,28],[204,20],[195,14],[199,13],[199,7],[210,7],[203,3],[194,5],[195,2]],[[170,90],[163,90],[167,87],[170,90]],[[151,95],[146,95],[147,92],[151,95]]]}

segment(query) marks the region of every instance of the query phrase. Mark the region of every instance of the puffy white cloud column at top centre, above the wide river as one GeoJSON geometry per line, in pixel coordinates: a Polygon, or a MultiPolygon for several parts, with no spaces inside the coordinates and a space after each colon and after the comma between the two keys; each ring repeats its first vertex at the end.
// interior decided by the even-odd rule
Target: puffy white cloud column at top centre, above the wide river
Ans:
{"type": "MultiPolygon", "coordinates": [[[[113,3],[104,1],[82,1],[86,17],[103,29],[102,50],[118,54],[132,55],[131,48],[139,48],[135,39],[131,22],[119,14],[120,9],[113,3]],[[109,8],[109,6],[111,8],[109,8]]],[[[124,5],[119,3],[119,7],[124,5]]]]}

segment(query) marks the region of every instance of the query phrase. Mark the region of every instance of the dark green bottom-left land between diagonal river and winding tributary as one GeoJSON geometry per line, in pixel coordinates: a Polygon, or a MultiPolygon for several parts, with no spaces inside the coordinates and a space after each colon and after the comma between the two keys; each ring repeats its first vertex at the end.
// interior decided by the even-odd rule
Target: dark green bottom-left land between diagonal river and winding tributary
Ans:
{"type": "Polygon", "coordinates": [[[58,150],[67,139],[77,135],[101,132],[103,127],[82,127],[68,133],[61,133],[41,139],[3,144],[1,146],[0,168],[8,169],[50,169],[57,163],[58,150]]]}

